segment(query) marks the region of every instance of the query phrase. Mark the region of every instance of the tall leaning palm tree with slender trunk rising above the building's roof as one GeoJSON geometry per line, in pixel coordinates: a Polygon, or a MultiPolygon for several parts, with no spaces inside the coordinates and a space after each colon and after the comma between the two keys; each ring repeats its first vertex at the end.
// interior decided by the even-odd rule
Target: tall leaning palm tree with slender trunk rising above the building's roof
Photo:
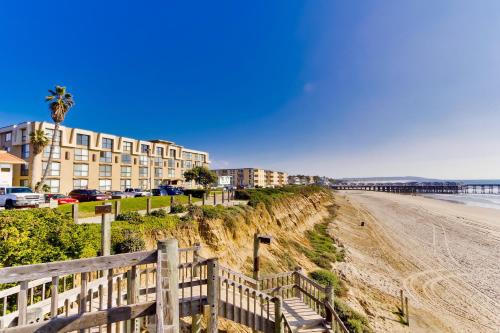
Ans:
{"type": "Polygon", "coordinates": [[[59,133],[59,125],[64,121],[68,111],[75,105],[73,96],[66,91],[66,87],[56,86],[55,90],[49,90],[49,96],[45,97],[46,102],[49,103],[50,116],[54,121],[54,133],[52,134],[52,142],[50,144],[49,158],[47,159],[47,166],[43,170],[40,185],[37,185],[36,191],[40,190],[47,178],[50,165],[52,163],[52,153],[56,144],[57,134],[59,133]]]}

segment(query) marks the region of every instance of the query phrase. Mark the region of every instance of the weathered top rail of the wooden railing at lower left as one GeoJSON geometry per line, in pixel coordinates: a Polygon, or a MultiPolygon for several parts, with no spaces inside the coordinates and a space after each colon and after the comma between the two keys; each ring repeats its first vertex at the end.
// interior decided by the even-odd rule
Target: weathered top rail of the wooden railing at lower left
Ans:
{"type": "Polygon", "coordinates": [[[156,250],[7,267],[0,269],[0,283],[36,280],[47,276],[93,272],[117,267],[144,265],[153,262],[156,262],[156,250]]]}

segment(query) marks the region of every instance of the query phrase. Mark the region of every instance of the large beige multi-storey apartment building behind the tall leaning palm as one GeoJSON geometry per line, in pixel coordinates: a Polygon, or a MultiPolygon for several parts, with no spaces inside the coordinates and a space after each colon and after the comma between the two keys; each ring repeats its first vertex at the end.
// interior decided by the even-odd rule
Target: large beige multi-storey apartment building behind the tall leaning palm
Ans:
{"type": "MultiPolygon", "coordinates": [[[[24,122],[0,128],[0,149],[20,157],[27,164],[14,168],[13,184],[34,187],[47,165],[50,145],[33,153],[30,133],[43,129],[49,139],[54,124],[24,122]]],[[[73,189],[151,189],[161,183],[194,187],[186,182],[185,170],[210,164],[207,152],[188,149],[171,141],[139,140],[60,126],[53,162],[45,183],[53,193],[73,189]]]]}

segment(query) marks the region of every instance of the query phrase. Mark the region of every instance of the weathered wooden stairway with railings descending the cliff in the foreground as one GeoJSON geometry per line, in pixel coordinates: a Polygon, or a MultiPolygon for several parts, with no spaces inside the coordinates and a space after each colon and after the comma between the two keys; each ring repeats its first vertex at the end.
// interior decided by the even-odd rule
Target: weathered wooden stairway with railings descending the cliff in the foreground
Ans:
{"type": "Polygon", "coordinates": [[[0,332],[216,333],[218,318],[269,333],[348,333],[332,287],[297,268],[255,280],[177,240],[154,251],[0,269],[0,332]]]}

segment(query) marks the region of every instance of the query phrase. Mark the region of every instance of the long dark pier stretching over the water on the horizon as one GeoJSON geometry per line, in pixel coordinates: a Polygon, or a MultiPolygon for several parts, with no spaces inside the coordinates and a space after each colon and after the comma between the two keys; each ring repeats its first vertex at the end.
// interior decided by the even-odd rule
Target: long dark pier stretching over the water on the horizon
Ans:
{"type": "Polygon", "coordinates": [[[444,183],[346,183],[330,186],[334,190],[362,190],[392,193],[499,194],[500,184],[444,183]]]}

